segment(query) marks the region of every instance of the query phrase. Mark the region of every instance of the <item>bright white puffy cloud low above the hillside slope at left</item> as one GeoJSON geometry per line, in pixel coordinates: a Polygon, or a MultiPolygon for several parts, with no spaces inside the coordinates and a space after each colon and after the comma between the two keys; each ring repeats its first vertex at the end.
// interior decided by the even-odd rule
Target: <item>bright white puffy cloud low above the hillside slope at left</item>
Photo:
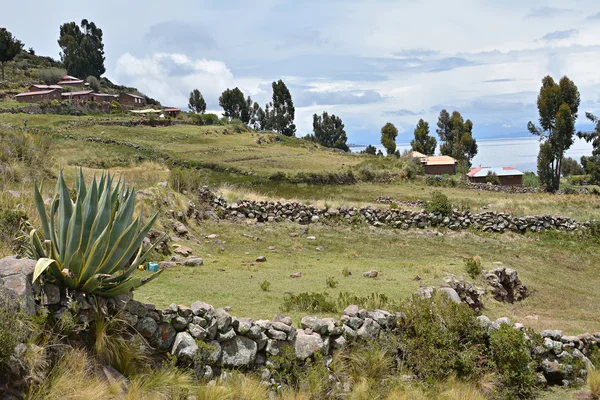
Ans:
{"type": "Polygon", "coordinates": [[[155,53],[142,58],[125,53],[117,60],[115,77],[175,107],[185,107],[190,91],[198,88],[209,109],[216,108],[216,99],[224,89],[239,83],[221,61],[193,59],[178,53],[155,53]]]}

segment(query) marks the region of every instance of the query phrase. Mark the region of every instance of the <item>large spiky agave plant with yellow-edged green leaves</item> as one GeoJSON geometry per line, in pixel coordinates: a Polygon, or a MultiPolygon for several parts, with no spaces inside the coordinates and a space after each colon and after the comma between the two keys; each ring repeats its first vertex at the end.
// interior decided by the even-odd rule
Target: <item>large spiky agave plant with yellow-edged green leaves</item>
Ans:
{"type": "Polygon", "coordinates": [[[133,272],[154,249],[146,252],[142,243],[158,215],[145,225],[142,212],[134,218],[135,188],[103,173],[86,187],[80,170],[76,200],[60,171],[56,191],[47,214],[42,187],[35,185],[34,197],[40,214],[43,238],[33,229],[31,251],[38,259],[33,281],[44,275],[50,282],[86,294],[113,297],[127,293],[154,279],[160,272],[134,278],[133,272]],[[132,258],[135,258],[132,260],[132,258]]]}

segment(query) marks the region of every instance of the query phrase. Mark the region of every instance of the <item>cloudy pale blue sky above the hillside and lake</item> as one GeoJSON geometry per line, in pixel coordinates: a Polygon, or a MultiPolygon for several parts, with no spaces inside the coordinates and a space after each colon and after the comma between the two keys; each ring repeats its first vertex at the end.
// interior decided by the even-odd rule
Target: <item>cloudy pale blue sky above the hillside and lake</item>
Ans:
{"type": "Polygon", "coordinates": [[[378,143],[386,122],[406,143],[420,118],[435,134],[443,108],[475,138],[527,136],[548,74],[579,87],[580,129],[600,113],[597,0],[22,0],[0,26],[58,58],[60,24],[83,18],[104,32],[105,75],[163,105],[185,109],[198,88],[219,112],[237,86],[264,106],[283,79],[297,136],[327,111],[349,143],[378,143]]]}

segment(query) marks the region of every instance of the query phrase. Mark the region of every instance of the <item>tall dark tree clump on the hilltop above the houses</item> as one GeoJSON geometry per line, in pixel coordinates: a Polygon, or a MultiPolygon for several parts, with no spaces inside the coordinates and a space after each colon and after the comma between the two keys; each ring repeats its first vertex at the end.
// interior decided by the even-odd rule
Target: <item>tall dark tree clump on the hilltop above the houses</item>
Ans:
{"type": "Polygon", "coordinates": [[[83,19],[81,28],[75,22],[61,25],[58,45],[61,61],[69,74],[100,78],[106,72],[102,29],[93,22],[83,19]]]}

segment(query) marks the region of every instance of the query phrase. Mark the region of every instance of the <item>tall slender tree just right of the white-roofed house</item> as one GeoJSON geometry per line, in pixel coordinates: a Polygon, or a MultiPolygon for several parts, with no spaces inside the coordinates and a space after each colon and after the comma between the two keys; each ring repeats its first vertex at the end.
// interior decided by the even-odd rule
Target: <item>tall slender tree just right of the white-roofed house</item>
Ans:
{"type": "MultiPolygon", "coordinates": [[[[579,90],[568,77],[563,76],[558,84],[550,76],[542,79],[542,87],[537,99],[540,126],[529,121],[527,129],[548,143],[549,148],[544,149],[546,154],[541,158],[548,163],[546,168],[549,168],[552,178],[548,188],[552,191],[560,187],[562,160],[565,152],[574,142],[579,103],[579,90]]],[[[539,160],[540,156],[538,156],[538,169],[539,160]]]]}

